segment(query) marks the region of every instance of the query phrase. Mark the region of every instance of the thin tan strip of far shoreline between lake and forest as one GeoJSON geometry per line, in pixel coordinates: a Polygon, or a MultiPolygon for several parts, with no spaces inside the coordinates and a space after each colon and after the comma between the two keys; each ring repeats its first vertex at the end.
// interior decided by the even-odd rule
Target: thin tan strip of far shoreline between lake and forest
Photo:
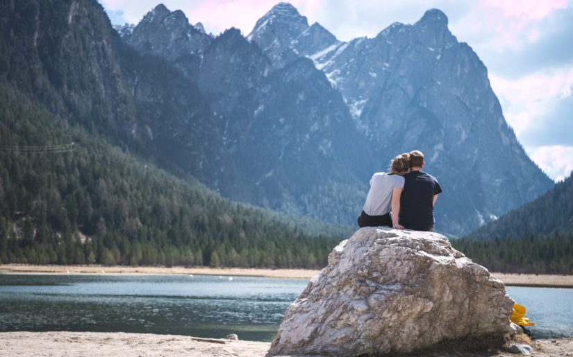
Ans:
{"type": "MultiPolygon", "coordinates": [[[[233,277],[310,279],[319,272],[320,270],[313,269],[0,264],[0,274],[222,275],[233,277]]],[[[492,275],[503,281],[506,286],[573,288],[573,275],[510,274],[499,272],[492,272],[492,275]]]]}

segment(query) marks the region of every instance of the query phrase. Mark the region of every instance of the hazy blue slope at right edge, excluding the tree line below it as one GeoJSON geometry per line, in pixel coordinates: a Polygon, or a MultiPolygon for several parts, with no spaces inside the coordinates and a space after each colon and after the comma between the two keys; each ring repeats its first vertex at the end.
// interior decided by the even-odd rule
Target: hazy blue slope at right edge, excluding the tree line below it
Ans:
{"type": "Polygon", "coordinates": [[[465,238],[523,238],[573,233],[573,176],[532,202],[510,211],[465,238]]]}

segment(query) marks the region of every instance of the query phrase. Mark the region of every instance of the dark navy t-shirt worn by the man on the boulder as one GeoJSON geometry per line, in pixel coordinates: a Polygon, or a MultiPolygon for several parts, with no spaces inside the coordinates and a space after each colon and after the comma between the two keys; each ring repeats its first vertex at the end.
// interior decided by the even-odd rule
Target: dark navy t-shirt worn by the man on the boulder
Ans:
{"type": "Polygon", "coordinates": [[[400,224],[408,229],[429,230],[433,227],[433,195],[442,193],[435,177],[423,171],[404,175],[404,192],[400,198],[400,224]]]}

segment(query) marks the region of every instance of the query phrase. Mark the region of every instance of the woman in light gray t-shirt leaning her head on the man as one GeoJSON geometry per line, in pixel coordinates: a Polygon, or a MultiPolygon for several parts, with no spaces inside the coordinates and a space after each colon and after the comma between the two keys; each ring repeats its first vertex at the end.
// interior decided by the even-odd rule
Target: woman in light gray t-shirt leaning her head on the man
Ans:
{"type": "Polygon", "coordinates": [[[364,209],[358,217],[358,226],[388,226],[404,229],[398,223],[400,195],[404,189],[404,177],[410,167],[410,155],[398,155],[392,160],[390,173],[374,173],[370,179],[370,190],[366,196],[364,209]],[[390,211],[392,216],[390,216],[390,211]]]}

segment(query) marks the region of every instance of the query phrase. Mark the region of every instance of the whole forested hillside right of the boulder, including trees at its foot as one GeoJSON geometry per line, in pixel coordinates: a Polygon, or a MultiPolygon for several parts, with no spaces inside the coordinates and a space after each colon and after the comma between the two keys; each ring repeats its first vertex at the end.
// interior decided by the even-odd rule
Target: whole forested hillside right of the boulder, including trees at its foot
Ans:
{"type": "Polygon", "coordinates": [[[497,272],[573,274],[573,177],[452,245],[497,272]]]}

